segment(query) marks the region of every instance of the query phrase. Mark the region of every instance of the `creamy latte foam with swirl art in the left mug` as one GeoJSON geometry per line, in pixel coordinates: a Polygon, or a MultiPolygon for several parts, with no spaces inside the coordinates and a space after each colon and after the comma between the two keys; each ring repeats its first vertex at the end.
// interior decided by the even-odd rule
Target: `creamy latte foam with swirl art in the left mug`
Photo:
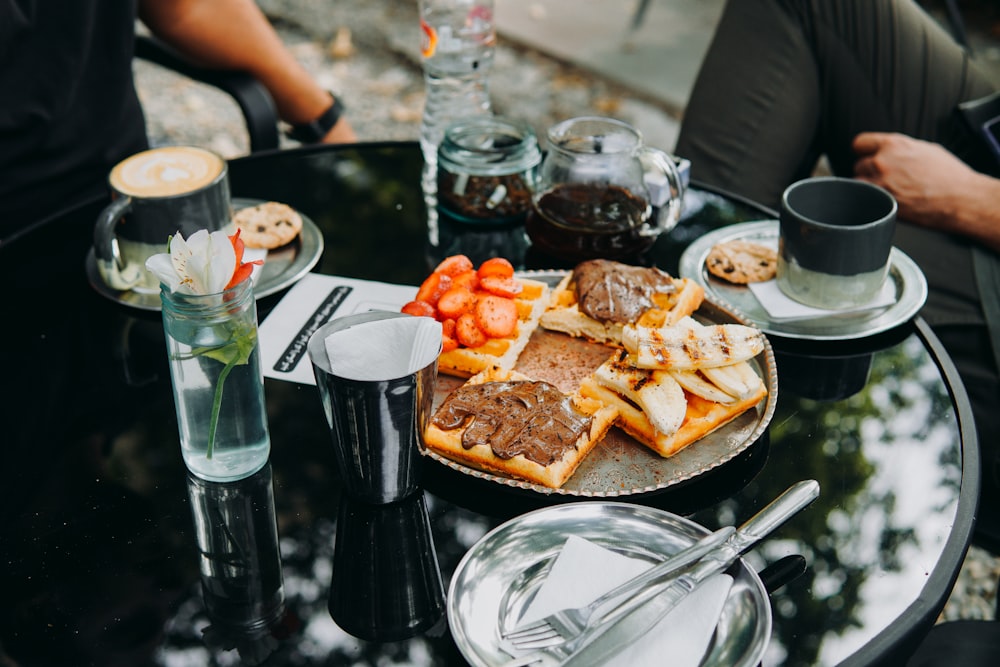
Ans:
{"type": "Polygon", "coordinates": [[[134,197],[172,197],[200,190],[223,172],[218,155],[193,146],[166,146],[133,155],[111,171],[111,186],[134,197]]]}

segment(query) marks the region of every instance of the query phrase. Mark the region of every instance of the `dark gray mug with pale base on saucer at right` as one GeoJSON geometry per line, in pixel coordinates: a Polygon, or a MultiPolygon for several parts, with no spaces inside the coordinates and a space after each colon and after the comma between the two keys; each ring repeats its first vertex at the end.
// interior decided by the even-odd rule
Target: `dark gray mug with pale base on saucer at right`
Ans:
{"type": "Polygon", "coordinates": [[[889,273],[896,200],[849,178],[808,178],[781,197],[778,287],[800,303],[846,310],[871,303],[889,273]]]}

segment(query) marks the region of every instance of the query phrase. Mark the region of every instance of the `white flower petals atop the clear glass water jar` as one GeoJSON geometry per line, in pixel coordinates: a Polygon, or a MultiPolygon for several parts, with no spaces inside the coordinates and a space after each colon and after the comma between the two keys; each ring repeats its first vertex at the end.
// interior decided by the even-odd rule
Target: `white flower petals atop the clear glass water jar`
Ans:
{"type": "Polygon", "coordinates": [[[169,253],[153,255],[146,268],[182,294],[216,294],[226,289],[239,258],[225,232],[200,229],[187,240],[180,232],[170,239],[169,253]]]}

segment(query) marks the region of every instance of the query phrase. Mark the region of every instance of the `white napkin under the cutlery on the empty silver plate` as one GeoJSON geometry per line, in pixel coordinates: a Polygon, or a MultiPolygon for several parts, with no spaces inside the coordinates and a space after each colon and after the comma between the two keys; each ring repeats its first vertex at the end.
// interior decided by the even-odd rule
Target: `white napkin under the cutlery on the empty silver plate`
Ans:
{"type": "MultiPolygon", "coordinates": [[[[588,604],[649,567],[648,561],[570,536],[518,624],[588,604]]],[[[664,656],[669,656],[671,667],[696,667],[705,656],[732,584],[728,574],[702,582],[641,640],[607,664],[659,665],[666,664],[664,656]]]]}

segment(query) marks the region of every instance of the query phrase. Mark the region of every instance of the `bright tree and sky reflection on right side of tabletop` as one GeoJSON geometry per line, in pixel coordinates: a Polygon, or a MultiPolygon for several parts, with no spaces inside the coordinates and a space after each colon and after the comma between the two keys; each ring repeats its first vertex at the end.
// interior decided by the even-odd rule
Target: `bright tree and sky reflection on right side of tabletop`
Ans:
{"type": "MultiPolygon", "coordinates": [[[[781,397],[771,422],[768,474],[741,492],[742,506],[762,505],[807,477],[827,492],[751,558],[758,567],[788,553],[801,553],[809,562],[806,574],[774,598],[772,662],[843,659],[835,628],[861,627],[862,619],[869,626],[888,624],[916,597],[924,573],[920,567],[917,576],[909,572],[910,556],[918,545],[932,551],[943,546],[947,526],[925,524],[933,524],[932,516],[942,510],[947,523],[954,511],[948,503],[956,497],[949,489],[960,482],[958,462],[947,456],[956,449],[951,412],[950,398],[914,336],[876,353],[868,389],[847,400],[781,397]],[[893,471],[914,456],[928,461],[921,469],[927,483],[919,490],[928,506],[916,512],[900,497],[913,489],[913,480],[907,484],[908,473],[893,471]],[[905,600],[879,599],[884,590],[879,580],[898,588],[905,600]]],[[[906,497],[911,502],[912,491],[906,497]]],[[[734,507],[723,503],[713,510],[717,518],[706,522],[746,518],[732,516],[734,507]]]]}

